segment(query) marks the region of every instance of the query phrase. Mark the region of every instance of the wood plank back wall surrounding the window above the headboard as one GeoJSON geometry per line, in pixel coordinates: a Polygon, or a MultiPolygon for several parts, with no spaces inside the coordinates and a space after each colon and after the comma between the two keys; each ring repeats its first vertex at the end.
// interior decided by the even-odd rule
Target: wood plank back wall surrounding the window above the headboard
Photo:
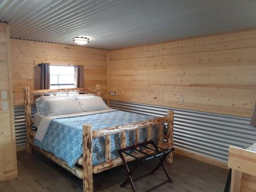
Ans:
{"type": "Polygon", "coordinates": [[[24,86],[39,89],[38,63],[83,65],[87,88],[101,84],[106,98],[106,50],[11,39],[14,105],[24,104],[24,86]]]}

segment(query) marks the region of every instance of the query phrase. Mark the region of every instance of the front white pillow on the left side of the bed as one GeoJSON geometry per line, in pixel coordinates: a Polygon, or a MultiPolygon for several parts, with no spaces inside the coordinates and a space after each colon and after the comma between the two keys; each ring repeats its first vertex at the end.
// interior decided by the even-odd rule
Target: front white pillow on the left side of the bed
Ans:
{"type": "Polygon", "coordinates": [[[75,97],[65,97],[47,100],[39,105],[46,114],[42,115],[63,115],[70,113],[81,113],[82,109],[75,97]]]}

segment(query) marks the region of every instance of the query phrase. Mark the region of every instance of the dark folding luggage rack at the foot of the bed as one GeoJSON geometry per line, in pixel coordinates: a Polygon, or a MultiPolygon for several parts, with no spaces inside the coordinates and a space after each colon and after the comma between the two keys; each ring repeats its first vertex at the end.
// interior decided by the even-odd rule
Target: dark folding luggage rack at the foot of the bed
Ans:
{"type": "Polygon", "coordinates": [[[122,162],[124,164],[124,168],[125,168],[126,173],[127,173],[127,177],[124,180],[124,182],[120,185],[120,187],[124,187],[126,184],[128,184],[130,182],[133,191],[136,192],[137,190],[136,190],[136,187],[135,187],[133,181],[141,179],[141,178],[143,178],[147,175],[154,174],[160,166],[163,167],[163,170],[164,170],[164,173],[167,177],[167,180],[158,184],[158,185],[156,185],[156,186],[154,186],[154,187],[152,187],[152,188],[150,188],[150,189],[148,189],[148,190],[146,190],[146,192],[151,191],[151,190],[153,190],[153,189],[155,189],[155,188],[157,188],[157,187],[159,187],[159,186],[161,186],[161,185],[163,185],[167,182],[173,183],[173,180],[170,178],[170,176],[167,173],[167,170],[166,170],[166,168],[163,164],[163,161],[174,150],[175,150],[175,148],[170,148],[169,150],[166,150],[165,148],[161,148],[161,147],[157,146],[156,143],[153,140],[146,141],[146,142],[143,142],[143,143],[139,143],[139,144],[136,144],[136,145],[133,145],[133,146],[129,146],[129,147],[125,147],[125,148],[122,148],[120,150],[117,150],[120,158],[122,159],[122,162]],[[153,145],[154,148],[151,148],[148,145],[153,145]],[[153,151],[153,154],[147,154],[147,153],[143,152],[142,150],[140,150],[139,148],[146,148],[147,150],[151,150],[151,151],[153,151]],[[139,157],[136,157],[136,156],[132,155],[131,153],[127,152],[127,151],[131,151],[131,150],[137,151],[138,153],[141,153],[144,156],[139,158],[139,157]],[[130,170],[129,166],[127,165],[127,162],[125,161],[123,154],[126,154],[128,156],[131,156],[131,157],[137,159],[137,161],[138,161],[137,164],[131,170],[130,170]],[[144,161],[147,161],[147,160],[150,160],[150,159],[154,159],[154,158],[158,158],[159,163],[157,164],[157,166],[153,170],[151,170],[151,172],[149,172],[147,174],[144,174],[144,175],[142,175],[142,176],[140,176],[136,179],[132,179],[132,175],[134,174],[136,168],[139,166],[139,164],[141,162],[144,162],[144,161]]]}

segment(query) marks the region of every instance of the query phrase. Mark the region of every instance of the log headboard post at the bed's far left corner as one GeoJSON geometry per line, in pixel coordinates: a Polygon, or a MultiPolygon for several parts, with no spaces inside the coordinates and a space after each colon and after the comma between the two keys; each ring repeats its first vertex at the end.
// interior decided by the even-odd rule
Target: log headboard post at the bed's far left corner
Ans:
{"type": "Polygon", "coordinates": [[[32,131],[32,118],[31,118],[31,101],[30,101],[30,87],[24,87],[24,105],[25,105],[25,125],[26,125],[26,151],[27,153],[32,152],[32,148],[30,146],[30,132],[32,131]]]}

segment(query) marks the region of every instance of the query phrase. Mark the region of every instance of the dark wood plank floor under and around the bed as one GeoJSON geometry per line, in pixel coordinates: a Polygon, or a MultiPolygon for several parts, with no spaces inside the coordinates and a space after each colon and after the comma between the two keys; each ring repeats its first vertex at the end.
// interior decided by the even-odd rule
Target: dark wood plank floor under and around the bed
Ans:
{"type": "MultiPolygon", "coordinates": [[[[17,153],[19,177],[0,182],[1,192],[30,191],[76,191],[82,192],[82,181],[70,175],[44,156],[25,151],[17,153]]],[[[137,170],[137,176],[150,170],[157,161],[146,162],[137,170]]],[[[132,164],[131,164],[132,165],[132,164]]],[[[154,191],[173,192],[218,192],[223,191],[228,170],[203,163],[185,156],[175,155],[175,162],[167,164],[168,173],[174,183],[166,183],[154,191]]],[[[135,173],[136,174],[136,173],[135,173]]],[[[94,175],[94,191],[131,191],[130,185],[124,188],[119,184],[124,180],[122,166],[94,175]]],[[[135,182],[139,191],[145,191],[165,180],[163,170],[135,182]]]]}

